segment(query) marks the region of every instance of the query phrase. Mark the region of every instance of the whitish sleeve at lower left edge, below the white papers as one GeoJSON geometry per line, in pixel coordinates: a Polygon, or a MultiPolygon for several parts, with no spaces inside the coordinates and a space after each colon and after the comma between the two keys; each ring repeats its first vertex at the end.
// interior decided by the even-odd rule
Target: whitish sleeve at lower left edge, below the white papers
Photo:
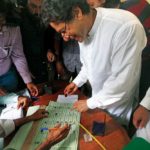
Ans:
{"type": "Polygon", "coordinates": [[[0,137],[6,137],[15,130],[13,120],[0,120],[0,137]]]}

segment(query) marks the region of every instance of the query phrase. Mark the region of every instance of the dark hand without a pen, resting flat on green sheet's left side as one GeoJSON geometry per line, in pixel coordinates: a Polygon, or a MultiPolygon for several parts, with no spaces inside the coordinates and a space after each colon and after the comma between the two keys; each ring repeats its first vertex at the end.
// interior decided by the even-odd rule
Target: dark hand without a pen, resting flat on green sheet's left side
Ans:
{"type": "Polygon", "coordinates": [[[45,109],[39,109],[38,111],[36,111],[33,115],[29,116],[30,120],[39,120],[41,118],[46,118],[48,117],[48,111],[46,111],[45,109]]]}

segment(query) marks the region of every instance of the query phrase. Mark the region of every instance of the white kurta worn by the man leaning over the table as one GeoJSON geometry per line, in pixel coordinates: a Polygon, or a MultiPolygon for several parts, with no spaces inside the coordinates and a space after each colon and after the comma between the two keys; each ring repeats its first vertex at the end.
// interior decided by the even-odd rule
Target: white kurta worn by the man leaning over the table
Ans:
{"type": "Polygon", "coordinates": [[[80,87],[89,80],[92,97],[87,99],[88,108],[106,109],[119,122],[127,124],[137,98],[145,45],[144,29],[133,14],[97,9],[89,36],[80,43],[83,67],[73,81],[80,87]]]}

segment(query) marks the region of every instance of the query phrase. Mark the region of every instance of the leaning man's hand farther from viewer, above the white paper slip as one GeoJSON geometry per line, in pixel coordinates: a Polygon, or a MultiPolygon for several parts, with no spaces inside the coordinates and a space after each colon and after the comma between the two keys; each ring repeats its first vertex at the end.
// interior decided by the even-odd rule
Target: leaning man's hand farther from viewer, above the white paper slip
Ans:
{"type": "Polygon", "coordinates": [[[64,95],[71,95],[77,91],[78,87],[75,83],[71,82],[64,90],[64,95]]]}

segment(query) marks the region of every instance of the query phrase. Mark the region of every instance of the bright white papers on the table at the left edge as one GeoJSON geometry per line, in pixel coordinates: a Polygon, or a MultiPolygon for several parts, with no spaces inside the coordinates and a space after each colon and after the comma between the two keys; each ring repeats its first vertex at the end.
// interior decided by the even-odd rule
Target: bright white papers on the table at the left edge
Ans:
{"type": "Polygon", "coordinates": [[[2,110],[0,119],[18,119],[23,117],[22,108],[17,109],[17,103],[7,104],[7,107],[2,110]]]}

